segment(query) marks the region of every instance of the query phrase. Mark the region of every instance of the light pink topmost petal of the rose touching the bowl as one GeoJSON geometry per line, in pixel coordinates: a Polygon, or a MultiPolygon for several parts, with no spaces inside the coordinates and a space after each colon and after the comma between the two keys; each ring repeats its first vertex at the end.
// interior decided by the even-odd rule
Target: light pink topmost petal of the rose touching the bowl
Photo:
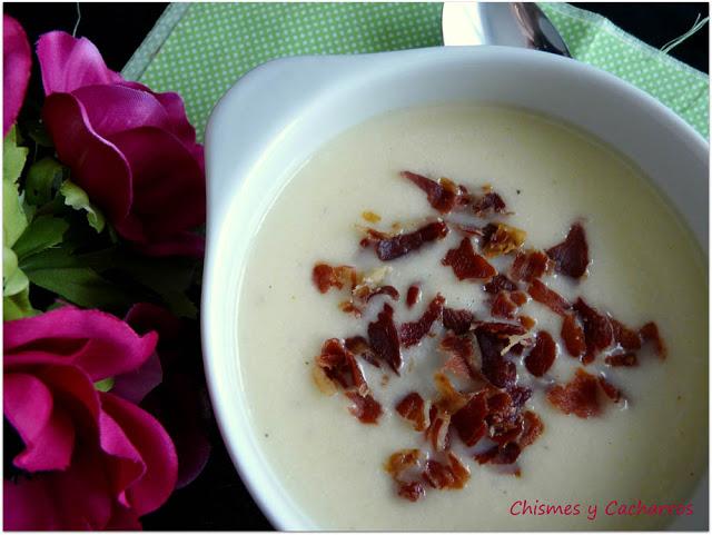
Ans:
{"type": "Polygon", "coordinates": [[[106,66],[101,53],[89,39],[77,39],[63,31],[50,31],[40,37],[37,57],[44,95],[123,80],[121,75],[106,66]]]}

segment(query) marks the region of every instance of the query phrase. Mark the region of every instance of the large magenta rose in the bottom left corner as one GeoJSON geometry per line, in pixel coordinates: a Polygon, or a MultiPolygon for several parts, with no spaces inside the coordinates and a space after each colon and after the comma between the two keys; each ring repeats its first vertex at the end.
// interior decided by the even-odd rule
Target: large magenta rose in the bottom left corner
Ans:
{"type": "Polygon", "coordinates": [[[141,367],[156,333],[67,306],[3,334],[6,447],[20,445],[4,470],[4,528],[139,528],[176,486],[176,450],[151,415],[95,384],[141,367]]]}

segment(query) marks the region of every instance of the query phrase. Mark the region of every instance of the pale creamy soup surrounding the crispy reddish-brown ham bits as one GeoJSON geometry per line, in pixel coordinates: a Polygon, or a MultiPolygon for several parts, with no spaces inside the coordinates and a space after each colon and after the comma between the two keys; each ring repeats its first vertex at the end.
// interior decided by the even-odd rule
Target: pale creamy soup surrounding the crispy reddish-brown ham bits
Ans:
{"type": "MultiPolygon", "coordinates": [[[[236,296],[236,336],[256,439],[285,491],[322,528],[664,526],[671,516],[620,514],[619,505],[688,505],[704,477],[705,273],[703,255],[657,190],[611,148],[575,129],[490,106],[416,108],[377,117],[313,155],[255,236],[236,296]],[[399,176],[404,169],[448,177],[471,190],[492,185],[514,212],[500,219],[527,231],[525,247],[558,244],[574,221],[582,221],[591,257],[587,276],[572,280],[548,275],[546,285],[570,300],[582,296],[627,326],[655,321],[668,346],[664,360],[646,344],[636,367],[609,367],[602,358],[586,366],[591,373],[603,370],[627,399],[602,400],[599,416],[565,415],[547,402],[545,388],[534,388],[527,407],[545,429],[517,460],[520,477],[464,457],[471,470],[465,488],[428,489],[415,503],[396,495],[383,467],[395,450],[423,446],[422,434],[394,407],[412,390],[433,396],[433,374],[444,360],[437,337],[403,350],[400,377],[362,363],[383,406],[377,425],[362,424],[349,414],[345,396],[325,396],[313,380],[314,357],[324,340],[365,335],[384,303],[393,305],[396,324],[419,318],[436,293],[449,307],[487,315],[482,284],[458,280],[441,262],[462,234],[451,230],[444,239],[385,264],[373,249],[359,246],[359,225],[409,228],[438,217],[424,192],[399,176]],[[364,211],[382,220],[366,222],[364,211]],[[378,296],[363,317],[346,314],[339,309],[344,291],[316,289],[312,275],[319,261],[362,271],[387,265],[392,269],[384,284],[397,288],[400,299],[378,296]],[[423,298],[408,309],[405,293],[413,283],[419,284],[423,298]],[[385,386],[384,374],[389,375],[385,386]],[[524,501],[534,508],[525,508],[524,501]],[[542,505],[571,507],[568,514],[541,514],[542,505]]],[[[581,364],[563,349],[561,318],[534,300],[521,314],[535,318],[535,330],[546,329],[558,344],[546,380],[567,383],[581,364]]],[[[433,333],[441,331],[434,325],[433,333]]]]}

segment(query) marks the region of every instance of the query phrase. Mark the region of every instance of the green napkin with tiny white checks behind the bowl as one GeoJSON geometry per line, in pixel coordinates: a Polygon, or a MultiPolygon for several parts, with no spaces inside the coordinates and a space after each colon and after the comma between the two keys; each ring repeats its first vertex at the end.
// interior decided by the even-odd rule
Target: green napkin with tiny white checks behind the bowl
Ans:
{"type": "MultiPolygon", "coordinates": [[[[709,137],[709,77],[609,20],[542,3],[574,58],[670,107],[709,137]]],[[[177,91],[202,139],[210,110],[243,75],[285,56],[364,53],[443,43],[442,3],[172,3],[123,69],[156,91],[177,91]]]]}

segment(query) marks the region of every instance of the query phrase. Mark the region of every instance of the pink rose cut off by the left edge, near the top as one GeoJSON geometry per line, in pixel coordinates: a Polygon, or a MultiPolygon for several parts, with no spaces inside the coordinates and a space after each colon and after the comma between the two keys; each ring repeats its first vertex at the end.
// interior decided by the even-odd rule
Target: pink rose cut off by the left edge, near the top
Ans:
{"type": "Polygon", "coordinates": [[[30,81],[30,43],[20,23],[2,14],[2,137],[14,125],[30,81]]]}

